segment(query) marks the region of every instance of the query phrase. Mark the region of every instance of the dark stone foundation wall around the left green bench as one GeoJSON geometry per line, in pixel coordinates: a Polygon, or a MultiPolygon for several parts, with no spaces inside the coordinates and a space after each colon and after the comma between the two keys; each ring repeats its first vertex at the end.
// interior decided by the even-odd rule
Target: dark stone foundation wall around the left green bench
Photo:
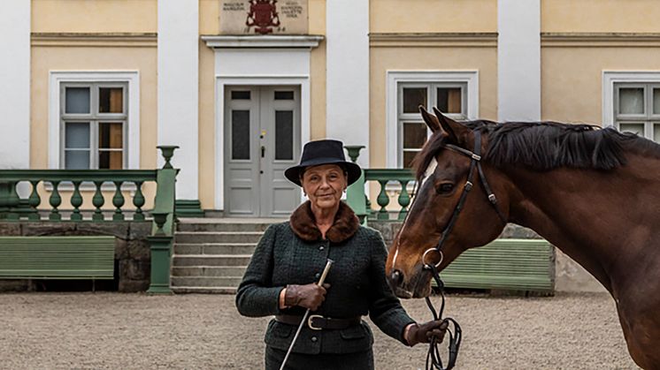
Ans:
{"type": "MultiPolygon", "coordinates": [[[[0,236],[113,236],[115,237],[115,279],[119,291],[146,291],[150,283],[150,246],[147,237],[151,233],[150,222],[120,223],[53,223],[19,222],[0,223],[0,236]]],[[[27,280],[0,280],[0,291],[30,290],[27,280]]]]}

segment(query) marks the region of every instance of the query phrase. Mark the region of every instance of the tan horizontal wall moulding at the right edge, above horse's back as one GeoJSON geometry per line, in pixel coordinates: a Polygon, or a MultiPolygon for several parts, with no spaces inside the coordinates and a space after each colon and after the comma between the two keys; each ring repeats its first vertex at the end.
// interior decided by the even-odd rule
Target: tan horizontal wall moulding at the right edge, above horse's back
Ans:
{"type": "Polygon", "coordinates": [[[660,47],[660,34],[541,33],[542,48],[660,47]]]}

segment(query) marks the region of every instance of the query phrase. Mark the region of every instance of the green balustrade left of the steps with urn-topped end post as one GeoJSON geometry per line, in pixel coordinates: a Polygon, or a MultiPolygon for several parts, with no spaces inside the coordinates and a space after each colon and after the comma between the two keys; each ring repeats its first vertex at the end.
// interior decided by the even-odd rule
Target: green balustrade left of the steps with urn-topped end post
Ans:
{"type": "Polygon", "coordinates": [[[113,223],[133,220],[151,222],[151,236],[147,238],[151,249],[151,293],[169,293],[170,260],[176,217],[174,198],[176,175],[170,160],[176,146],[159,146],[165,165],[159,170],[0,170],[0,221],[40,221],[65,223],[113,223]],[[144,183],[156,183],[154,208],[143,209],[146,200],[142,193],[144,183]],[[40,192],[40,185],[42,191],[40,192]],[[122,193],[122,186],[133,186],[132,197],[122,193]],[[20,197],[19,187],[28,189],[29,195],[20,197]],[[106,215],[103,192],[114,191],[111,198],[111,215],[106,215]],[[41,194],[40,194],[41,193],[41,194]],[[50,195],[49,195],[50,193],[50,195]],[[71,193],[71,208],[61,209],[62,193],[71,193]],[[47,215],[40,213],[42,194],[48,199],[47,215]],[[91,210],[81,210],[83,196],[91,197],[91,210]],[[62,211],[70,213],[63,217],[62,211]],[[146,220],[150,213],[152,220],[146,220]]]}

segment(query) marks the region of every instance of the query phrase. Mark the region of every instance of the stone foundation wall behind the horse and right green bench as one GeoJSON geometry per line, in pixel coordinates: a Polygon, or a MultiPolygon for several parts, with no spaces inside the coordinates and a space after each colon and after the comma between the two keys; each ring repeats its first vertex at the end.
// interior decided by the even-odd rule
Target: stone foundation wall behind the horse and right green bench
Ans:
{"type": "MultiPolygon", "coordinates": [[[[402,223],[391,221],[370,221],[369,226],[379,230],[385,239],[385,244],[392,245],[396,233],[401,230],[402,223]]],[[[509,223],[504,228],[500,238],[541,238],[533,230],[509,223]]],[[[602,292],[605,288],[589,274],[587,270],[571,257],[555,248],[555,291],[591,291],[602,292]]]]}

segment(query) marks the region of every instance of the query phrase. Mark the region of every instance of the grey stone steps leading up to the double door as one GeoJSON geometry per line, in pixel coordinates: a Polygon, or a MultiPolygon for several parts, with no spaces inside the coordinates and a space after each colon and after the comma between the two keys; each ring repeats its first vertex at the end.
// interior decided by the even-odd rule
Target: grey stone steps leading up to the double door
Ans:
{"type": "Polygon", "coordinates": [[[264,230],[281,221],[181,218],[174,236],[172,291],[234,294],[264,230]]]}

